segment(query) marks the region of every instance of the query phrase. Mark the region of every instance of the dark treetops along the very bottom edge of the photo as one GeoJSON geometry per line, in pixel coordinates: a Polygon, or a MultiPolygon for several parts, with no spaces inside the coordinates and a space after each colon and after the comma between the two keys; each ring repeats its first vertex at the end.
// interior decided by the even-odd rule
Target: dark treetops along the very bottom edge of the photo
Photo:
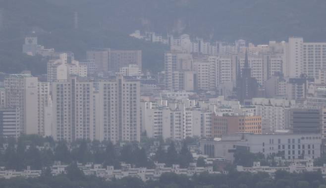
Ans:
{"type": "Polygon", "coordinates": [[[51,176],[44,173],[37,179],[12,178],[0,180],[1,188],[326,188],[320,172],[290,174],[277,171],[275,178],[267,173],[229,174],[202,173],[187,177],[164,173],[158,180],[143,182],[135,177],[105,181],[94,176],[85,176],[76,164],[68,167],[66,175],[51,176]]]}

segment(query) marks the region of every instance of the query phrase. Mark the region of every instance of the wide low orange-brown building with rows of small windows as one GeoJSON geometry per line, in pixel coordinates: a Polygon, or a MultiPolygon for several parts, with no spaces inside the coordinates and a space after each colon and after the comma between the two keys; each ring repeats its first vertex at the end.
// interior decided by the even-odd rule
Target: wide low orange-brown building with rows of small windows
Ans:
{"type": "Polygon", "coordinates": [[[261,116],[217,116],[212,114],[212,137],[237,133],[262,134],[261,116]]]}

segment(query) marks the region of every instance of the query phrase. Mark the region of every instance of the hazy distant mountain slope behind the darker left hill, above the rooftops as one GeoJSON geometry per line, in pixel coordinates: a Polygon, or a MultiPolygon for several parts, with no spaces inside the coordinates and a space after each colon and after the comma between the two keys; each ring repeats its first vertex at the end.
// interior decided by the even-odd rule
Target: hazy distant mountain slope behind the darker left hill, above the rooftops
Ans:
{"type": "MultiPolygon", "coordinates": [[[[54,0],[49,0],[54,1],[54,0]]],[[[57,0],[55,0],[57,1],[57,0]]],[[[243,38],[255,43],[302,36],[326,39],[325,0],[70,0],[68,4],[104,28],[130,33],[189,33],[214,40],[243,38]],[[147,20],[143,24],[142,20],[147,20]],[[184,27],[179,30],[178,24],[184,27]],[[262,23],[262,24],[261,24],[262,23]]],[[[85,17],[84,15],[84,17],[85,17]]],[[[95,26],[95,25],[93,25],[95,26]]]]}

